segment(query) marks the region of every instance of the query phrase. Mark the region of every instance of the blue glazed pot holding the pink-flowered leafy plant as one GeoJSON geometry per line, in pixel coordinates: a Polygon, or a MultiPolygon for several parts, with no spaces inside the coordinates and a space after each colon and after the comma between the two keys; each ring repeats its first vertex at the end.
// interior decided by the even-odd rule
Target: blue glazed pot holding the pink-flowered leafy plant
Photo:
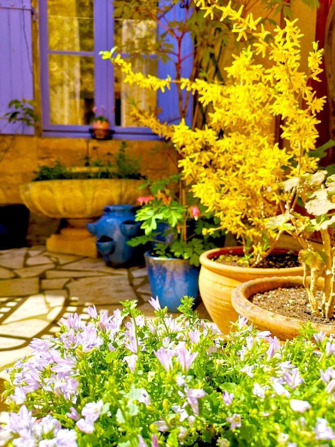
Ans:
{"type": "Polygon", "coordinates": [[[176,312],[184,295],[198,300],[200,267],[190,265],[184,259],[152,256],[149,251],[144,258],[151,295],[158,296],[162,307],[167,306],[170,312],[176,312]]]}

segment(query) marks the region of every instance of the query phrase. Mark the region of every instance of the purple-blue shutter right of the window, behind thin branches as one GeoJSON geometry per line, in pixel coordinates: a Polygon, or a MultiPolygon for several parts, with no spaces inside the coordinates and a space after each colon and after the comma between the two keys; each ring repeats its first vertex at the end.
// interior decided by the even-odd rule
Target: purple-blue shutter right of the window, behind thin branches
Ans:
{"type": "MultiPolygon", "coordinates": [[[[168,21],[182,21],[187,14],[187,10],[182,7],[182,2],[179,1],[177,4],[173,5],[172,0],[159,0],[162,6],[169,6],[171,8],[165,13],[165,18],[168,21]]],[[[164,28],[158,26],[158,33],[162,35],[164,33],[164,28]]],[[[177,52],[177,40],[167,34],[165,39],[169,44],[173,45],[174,52],[177,52]]],[[[184,36],[181,47],[181,59],[182,59],[182,76],[189,77],[192,71],[193,63],[193,42],[190,34],[184,36]]],[[[171,60],[167,61],[165,64],[159,60],[158,62],[158,76],[161,78],[166,77],[168,74],[175,77],[176,69],[175,62],[177,61],[177,56],[172,56],[171,60]]],[[[183,92],[183,100],[185,101],[185,92],[183,92]]],[[[158,107],[162,110],[159,114],[159,118],[162,122],[167,121],[169,124],[177,124],[180,122],[179,108],[178,108],[178,93],[177,87],[175,85],[171,86],[171,90],[165,90],[164,93],[158,92],[158,107]]],[[[192,97],[190,98],[190,103],[188,104],[186,123],[191,125],[192,123],[192,97]]]]}

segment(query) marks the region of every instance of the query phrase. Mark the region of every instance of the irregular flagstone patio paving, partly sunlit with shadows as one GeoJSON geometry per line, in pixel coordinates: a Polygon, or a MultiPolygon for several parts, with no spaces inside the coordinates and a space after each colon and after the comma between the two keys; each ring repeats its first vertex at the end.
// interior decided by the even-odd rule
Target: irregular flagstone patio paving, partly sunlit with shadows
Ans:
{"type": "MultiPolygon", "coordinates": [[[[32,338],[54,336],[69,313],[87,320],[92,303],[112,312],[120,301],[137,299],[139,309],[153,317],[149,298],[145,268],[113,269],[102,259],[52,253],[44,246],[0,251],[0,377],[30,354],[32,338]]],[[[202,303],[197,310],[209,319],[202,303]]]]}

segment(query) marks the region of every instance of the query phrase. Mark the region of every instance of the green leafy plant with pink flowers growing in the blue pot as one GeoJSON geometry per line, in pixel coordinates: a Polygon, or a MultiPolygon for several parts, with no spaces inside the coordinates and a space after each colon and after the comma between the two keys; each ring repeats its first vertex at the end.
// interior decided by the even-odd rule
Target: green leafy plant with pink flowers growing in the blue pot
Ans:
{"type": "Polygon", "coordinates": [[[143,188],[148,188],[151,195],[137,199],[142,206],[135,221],[142,222],[145,234],[134,237],[128,244],[135,247],[152,242],[156,256],[188,259],[191,265],[199,266],[201,253],[215,247],[213,236],[223,236],[222,231],[202,236],[204,228],[213,226],[211,214],[196,204],[192,194],[186,193],[180,174],[149,180],[143,188]]]}

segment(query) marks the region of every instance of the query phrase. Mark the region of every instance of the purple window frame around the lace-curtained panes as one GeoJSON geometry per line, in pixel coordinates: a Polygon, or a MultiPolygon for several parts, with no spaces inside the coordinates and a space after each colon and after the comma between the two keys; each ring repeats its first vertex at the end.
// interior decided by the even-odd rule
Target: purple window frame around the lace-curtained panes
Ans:
{"type": "Polygon", "coordinates": [[[41,49],[41,93],[42,93],[42,127],[43,136],[90,138],[88,125],[61,125],[50,123],[49,95],[49,54],[94,56],[94,97],[98,106],[108,111],[107,118],[114,139],[122,140],[157,140],[151,129],[141,127],[115,126],[114,117],[114,67],[99,56],[99,52],[114,46],[113,4],[111,0],[94,1],[94,51],[49,50],[48,34],[48,0],[39,0],[40,7],[40,49],[41,49]],[[97,31],[98,30],[98,31],[97,31]]]}

